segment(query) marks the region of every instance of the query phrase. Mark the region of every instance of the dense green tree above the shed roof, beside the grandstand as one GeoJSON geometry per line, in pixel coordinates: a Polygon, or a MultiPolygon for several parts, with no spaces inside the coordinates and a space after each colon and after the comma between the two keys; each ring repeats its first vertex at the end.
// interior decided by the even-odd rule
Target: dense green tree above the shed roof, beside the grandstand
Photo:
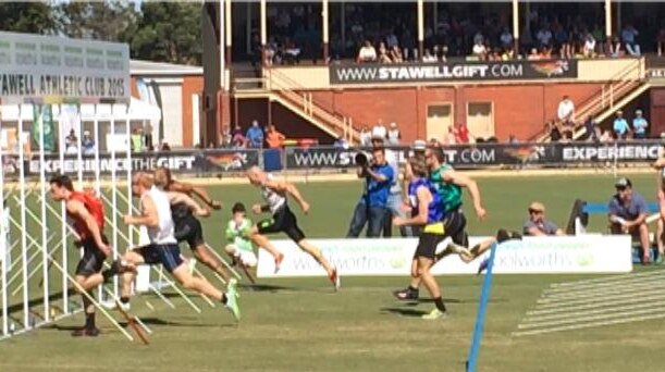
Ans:
{"type": "Polygon", "coordinates": [[[132,57],[200,65],[201,5],[144,1],[138,29],[131,38],[132,57]]]}

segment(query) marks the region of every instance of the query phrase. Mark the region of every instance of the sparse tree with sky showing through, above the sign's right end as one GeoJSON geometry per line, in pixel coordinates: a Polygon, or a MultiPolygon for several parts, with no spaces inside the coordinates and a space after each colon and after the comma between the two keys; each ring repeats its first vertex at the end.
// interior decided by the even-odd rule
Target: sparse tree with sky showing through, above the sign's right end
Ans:
{"type": "Polygon", "coordinates": [[[57,8],[58,28],[69,37],[128,42],[139,14],[126,0],[71,1],[57,8]]]}

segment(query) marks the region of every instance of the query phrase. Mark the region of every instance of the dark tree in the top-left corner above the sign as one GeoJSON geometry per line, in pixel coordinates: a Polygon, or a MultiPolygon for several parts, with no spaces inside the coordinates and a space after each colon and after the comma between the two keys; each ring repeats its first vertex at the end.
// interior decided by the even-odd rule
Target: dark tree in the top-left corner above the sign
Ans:
{"type": "Polygon", "coordinates": [[[53,8],[47,2],[0,2],[0,30],[54,34],[53,8]]]}

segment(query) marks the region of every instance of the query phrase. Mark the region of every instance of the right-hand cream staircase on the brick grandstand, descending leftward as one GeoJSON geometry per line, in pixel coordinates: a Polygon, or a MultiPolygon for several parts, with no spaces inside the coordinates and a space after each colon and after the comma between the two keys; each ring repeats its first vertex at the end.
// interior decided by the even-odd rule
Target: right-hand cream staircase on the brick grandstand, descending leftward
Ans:
{"type": "MultiPolygon", "coordinates": [[[[572,139],[578,139],[584,135],[583,121],[586,117],[592,116],[596,123],[600,123],[649,88],[650,85],[644,78],[644,59],[632,60],[626,69],[613,76],[609,83],[603,85],[581,104],[576,104],[575,116],[577,123],[572,139]],[[635,78],[636,75],[639,78],[635,78]]],[[[541,132],[531,139],[539,142],[550,141],[550,133],[541,132]]]]}

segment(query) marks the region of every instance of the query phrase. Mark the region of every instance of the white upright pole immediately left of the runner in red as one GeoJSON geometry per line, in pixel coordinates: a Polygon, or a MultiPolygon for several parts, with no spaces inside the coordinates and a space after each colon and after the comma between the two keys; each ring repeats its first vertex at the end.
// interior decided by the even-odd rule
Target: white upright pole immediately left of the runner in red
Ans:
{"type": "MultiPolygon", "coordinates": [[[[40,213],[41,213],[41,272],[44,274],[42,289],[44,289],[44,319],[45,321],[49,321],[51,318],[49,311],[49,262],[48,262],[48,246],[49,240],[47,239],[47,222],[46,222],[46,161],[44,156],[44,128],[46,127],[46,123],[44,122],[44,106],[39,107],[39,116],[41,127],[39,128],[39,183],[40,195],[41,195],[41,203],[40,203],[40,213]]],[[[53,111],[49,106],[49,110],[51,112],[50,120],[53,120],[53,111]]],[[[33,131],[35,131],[35,122],[33,122],[33,131]]],[[[50,123],[49,123],[50,125],[50,123]]]]}

